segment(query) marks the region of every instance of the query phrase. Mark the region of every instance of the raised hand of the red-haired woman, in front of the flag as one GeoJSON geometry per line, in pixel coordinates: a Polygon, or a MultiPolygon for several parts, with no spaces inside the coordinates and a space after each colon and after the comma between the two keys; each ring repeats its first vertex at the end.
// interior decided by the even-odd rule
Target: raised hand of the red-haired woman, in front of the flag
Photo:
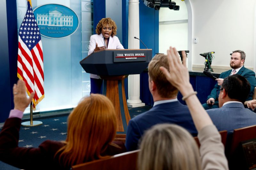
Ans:
{"type": "Polygon", "coordinates": [[[25,82],[22,80],[18,80],[17,84],[13,85],[14,109],[24,112],[24,110],[28,107],[29,103],[32,101],[34,95],[35,92],[32,92],[29,98],[27,98],[25,82]]]}

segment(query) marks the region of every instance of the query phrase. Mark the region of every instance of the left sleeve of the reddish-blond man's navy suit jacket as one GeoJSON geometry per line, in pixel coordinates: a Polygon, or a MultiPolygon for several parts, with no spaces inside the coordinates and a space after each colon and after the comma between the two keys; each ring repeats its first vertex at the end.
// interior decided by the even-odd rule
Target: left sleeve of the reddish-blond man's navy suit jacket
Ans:
{"type": "Polygon", "coordinates": [[[125,147],[127,151],[133,151],[138,149],[138,141],[141,137],[140,130],[137,123],[131,119],[128,124],[125,147]]]}

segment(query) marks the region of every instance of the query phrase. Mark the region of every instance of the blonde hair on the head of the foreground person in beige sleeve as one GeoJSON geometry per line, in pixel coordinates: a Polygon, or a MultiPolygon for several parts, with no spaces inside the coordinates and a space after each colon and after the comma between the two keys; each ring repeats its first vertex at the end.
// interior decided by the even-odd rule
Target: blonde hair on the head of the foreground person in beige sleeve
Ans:
{"type": "Polygon", "coordinates": [[[194,138],[178,125],[152,126],[145,132],[140,148],[140,170],[202,169],[194,138]]]}

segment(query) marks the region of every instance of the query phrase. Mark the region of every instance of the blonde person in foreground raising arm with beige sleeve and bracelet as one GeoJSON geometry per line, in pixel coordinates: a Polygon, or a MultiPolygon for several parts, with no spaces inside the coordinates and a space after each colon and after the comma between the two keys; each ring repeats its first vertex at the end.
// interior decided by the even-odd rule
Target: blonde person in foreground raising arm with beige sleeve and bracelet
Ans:
{"type": "Polygon", "coordinates": [[[211,118],[199,102],[196,92],[194,92],[189,82],[186,54],[182,52],[183,64],[180,63],[180,56],[175,48],[170,47],[170,49],[167,50],[167,54],[169,71],[165,67],[160,67],[160,70],[164,73],[167,80],[179,89],[180,93],[183,95],[182,99],[185,100],[188,105],[188,109],[198,131],[198,138],[201,144],[201,161],[198,161],[199,154],[194,151],[196,149],[195,141],[188,132],[185,130],[181,131],[181,127],[178,129],[177,126],[174,125],[156,125],[142,138],[140,145],[141,151],[138,159],[139,169],[228,169],[228,161],[224,154],[221,136],[217,128],[213,125],[211,118]],[[152,133],[155,133],[155,135],[152,135],[152,133]],[[156,135],[156,133],[159,135],[156,135]],[[187,141],[185,142],[185,140],[187,141]],[[155,150],[155,152],[153,153],[150,150],[155,150]],[[157,157],[162,157],[162,159],[166,161],[161,161],[160,163],[156,162],[155,159],[157,157]],[[149,159],[151,159],[153,163],[150,166],[146,166],[146,164],[150,162],[149,159]],[[194,159],[195,163],[192,163],[189,159],[194,159]]]}

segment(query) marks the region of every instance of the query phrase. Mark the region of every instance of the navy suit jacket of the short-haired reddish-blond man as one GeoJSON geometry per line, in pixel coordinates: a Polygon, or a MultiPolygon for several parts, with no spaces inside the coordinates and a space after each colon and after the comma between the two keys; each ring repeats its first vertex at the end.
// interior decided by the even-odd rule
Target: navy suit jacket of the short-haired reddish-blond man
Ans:
{"type": "Polygon", "coordinates": [[[196,127],[189,113],[188,107],[179,101],[157,104],[147,112],[144,112],[129,122],[125,146],[128,151],[138,148],[138,141],[144,131],[155,124],[171,123],[187,129],[192,135],[196,135],[196,127]]]}

